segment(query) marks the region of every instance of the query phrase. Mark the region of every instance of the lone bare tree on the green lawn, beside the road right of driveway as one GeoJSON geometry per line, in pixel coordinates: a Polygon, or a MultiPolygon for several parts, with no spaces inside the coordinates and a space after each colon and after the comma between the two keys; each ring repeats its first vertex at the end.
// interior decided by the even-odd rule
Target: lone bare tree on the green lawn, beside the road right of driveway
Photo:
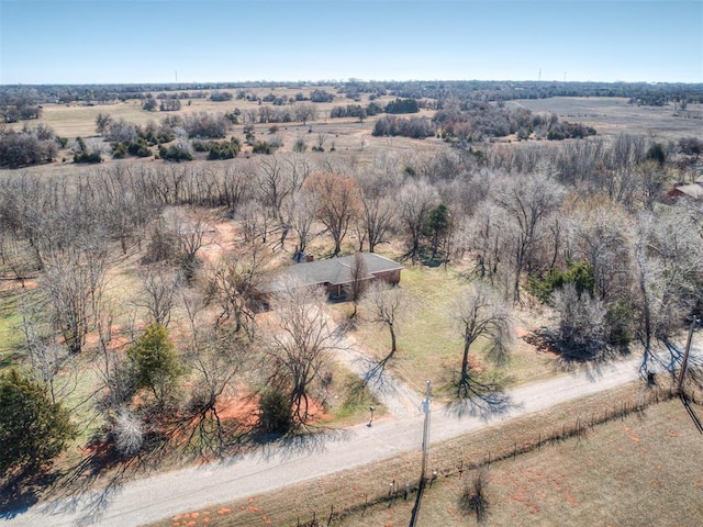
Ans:
{"type": "MultiPolygon", "coordinates": [[[[488,341],[487,357],[496,365],[509,358],[513,339],[513,322],[510,310],[486,283],[475,281],[454,303],[451,315],[464,339],[461,370],[457,385],[459,399],[467,399],[479,392],[472,385],[469,351],[479,339],[488,341]]],[[[478,383],[477,383],[478,384],[478,383]]]]}

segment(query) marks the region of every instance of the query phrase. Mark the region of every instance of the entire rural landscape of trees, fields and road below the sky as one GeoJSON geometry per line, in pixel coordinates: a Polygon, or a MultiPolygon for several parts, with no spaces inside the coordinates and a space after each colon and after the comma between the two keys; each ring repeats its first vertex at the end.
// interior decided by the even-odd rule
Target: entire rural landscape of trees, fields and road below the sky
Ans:
{"type": "Polygon", "coordinates": [[[0,525],[701,525],[703,85],[0,115],[0,525]]]}

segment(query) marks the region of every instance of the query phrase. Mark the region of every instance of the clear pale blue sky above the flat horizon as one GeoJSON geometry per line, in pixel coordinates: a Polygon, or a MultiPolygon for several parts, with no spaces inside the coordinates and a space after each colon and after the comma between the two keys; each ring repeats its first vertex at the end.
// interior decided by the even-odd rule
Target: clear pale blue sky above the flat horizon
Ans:
{"type": "Polygon", "coordinates": [[[703,1],[0,0],[0,83],[703,82],[703,1]]]}

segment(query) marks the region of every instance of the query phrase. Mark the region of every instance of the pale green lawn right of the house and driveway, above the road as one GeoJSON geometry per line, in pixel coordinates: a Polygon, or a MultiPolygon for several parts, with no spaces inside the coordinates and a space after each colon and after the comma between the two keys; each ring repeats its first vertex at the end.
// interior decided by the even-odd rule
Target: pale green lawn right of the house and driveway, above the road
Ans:
{"type": "MultiPolygon", "coordinates": [[[[406,292],[408,302],[399,324],[399,349],[388,368],[417,393],[423,393],[426,381],[432,380],[438,389],[436,396],[442,396],[439,389],[448,386],[451,374],[460,368],[464,345],[451,318],[451,305],[468,281],[459,271],[453,267],[445,269],[410,265],[402,271],[399,287],[406,292]]],[[[337,319],[349,310],[348,304],[337,304],[337,319]]],[[[350,336],[375,359],[382,359],[390,350],[388,329],[364,323],[366,315],[362,307],[358,316],[360,322],[350,336]]],[[[477,370],[499,374],[505,388],[548,379],[558,373],[551,357],[537,352],[521,338],[515,339],[511,360],[504,367],[492,367],[486,361],[484,341],[477,343],[470,356],[477,370]]],[[[446,396],[451,394],[446,393],[446,396]]]]}

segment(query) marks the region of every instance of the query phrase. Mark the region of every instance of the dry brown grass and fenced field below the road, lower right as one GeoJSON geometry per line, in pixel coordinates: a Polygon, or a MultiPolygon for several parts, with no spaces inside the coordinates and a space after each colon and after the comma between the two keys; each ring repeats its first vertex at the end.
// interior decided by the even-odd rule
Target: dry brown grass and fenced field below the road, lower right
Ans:
{"type": "MultiPolygon", "coordinates": [[[[476,525],[460,500],[473,467],[492,459],[483,525],[699,525],[703,469],[691,460],[703,455],[703,442],[680,401],[667,401],[668,393],[632,383],[432,444],[428,470],[437,478],[426,490],[417,524],[476,525]],[[656,404],[658,397],[665,402],[656,404]],[[617,416],[646,401],[655,404],[617,416]],[[610,421],[598,424],[607,415],[610,421]],[[579,423],[582,434],[546,440],[568,435],[579,423]],[[521,453],[523,447],[529,447],[527,453],[521,453]]],[[[152,525],[408,525],[420,463],[419,445],[415,452],[152,525]]]]}

